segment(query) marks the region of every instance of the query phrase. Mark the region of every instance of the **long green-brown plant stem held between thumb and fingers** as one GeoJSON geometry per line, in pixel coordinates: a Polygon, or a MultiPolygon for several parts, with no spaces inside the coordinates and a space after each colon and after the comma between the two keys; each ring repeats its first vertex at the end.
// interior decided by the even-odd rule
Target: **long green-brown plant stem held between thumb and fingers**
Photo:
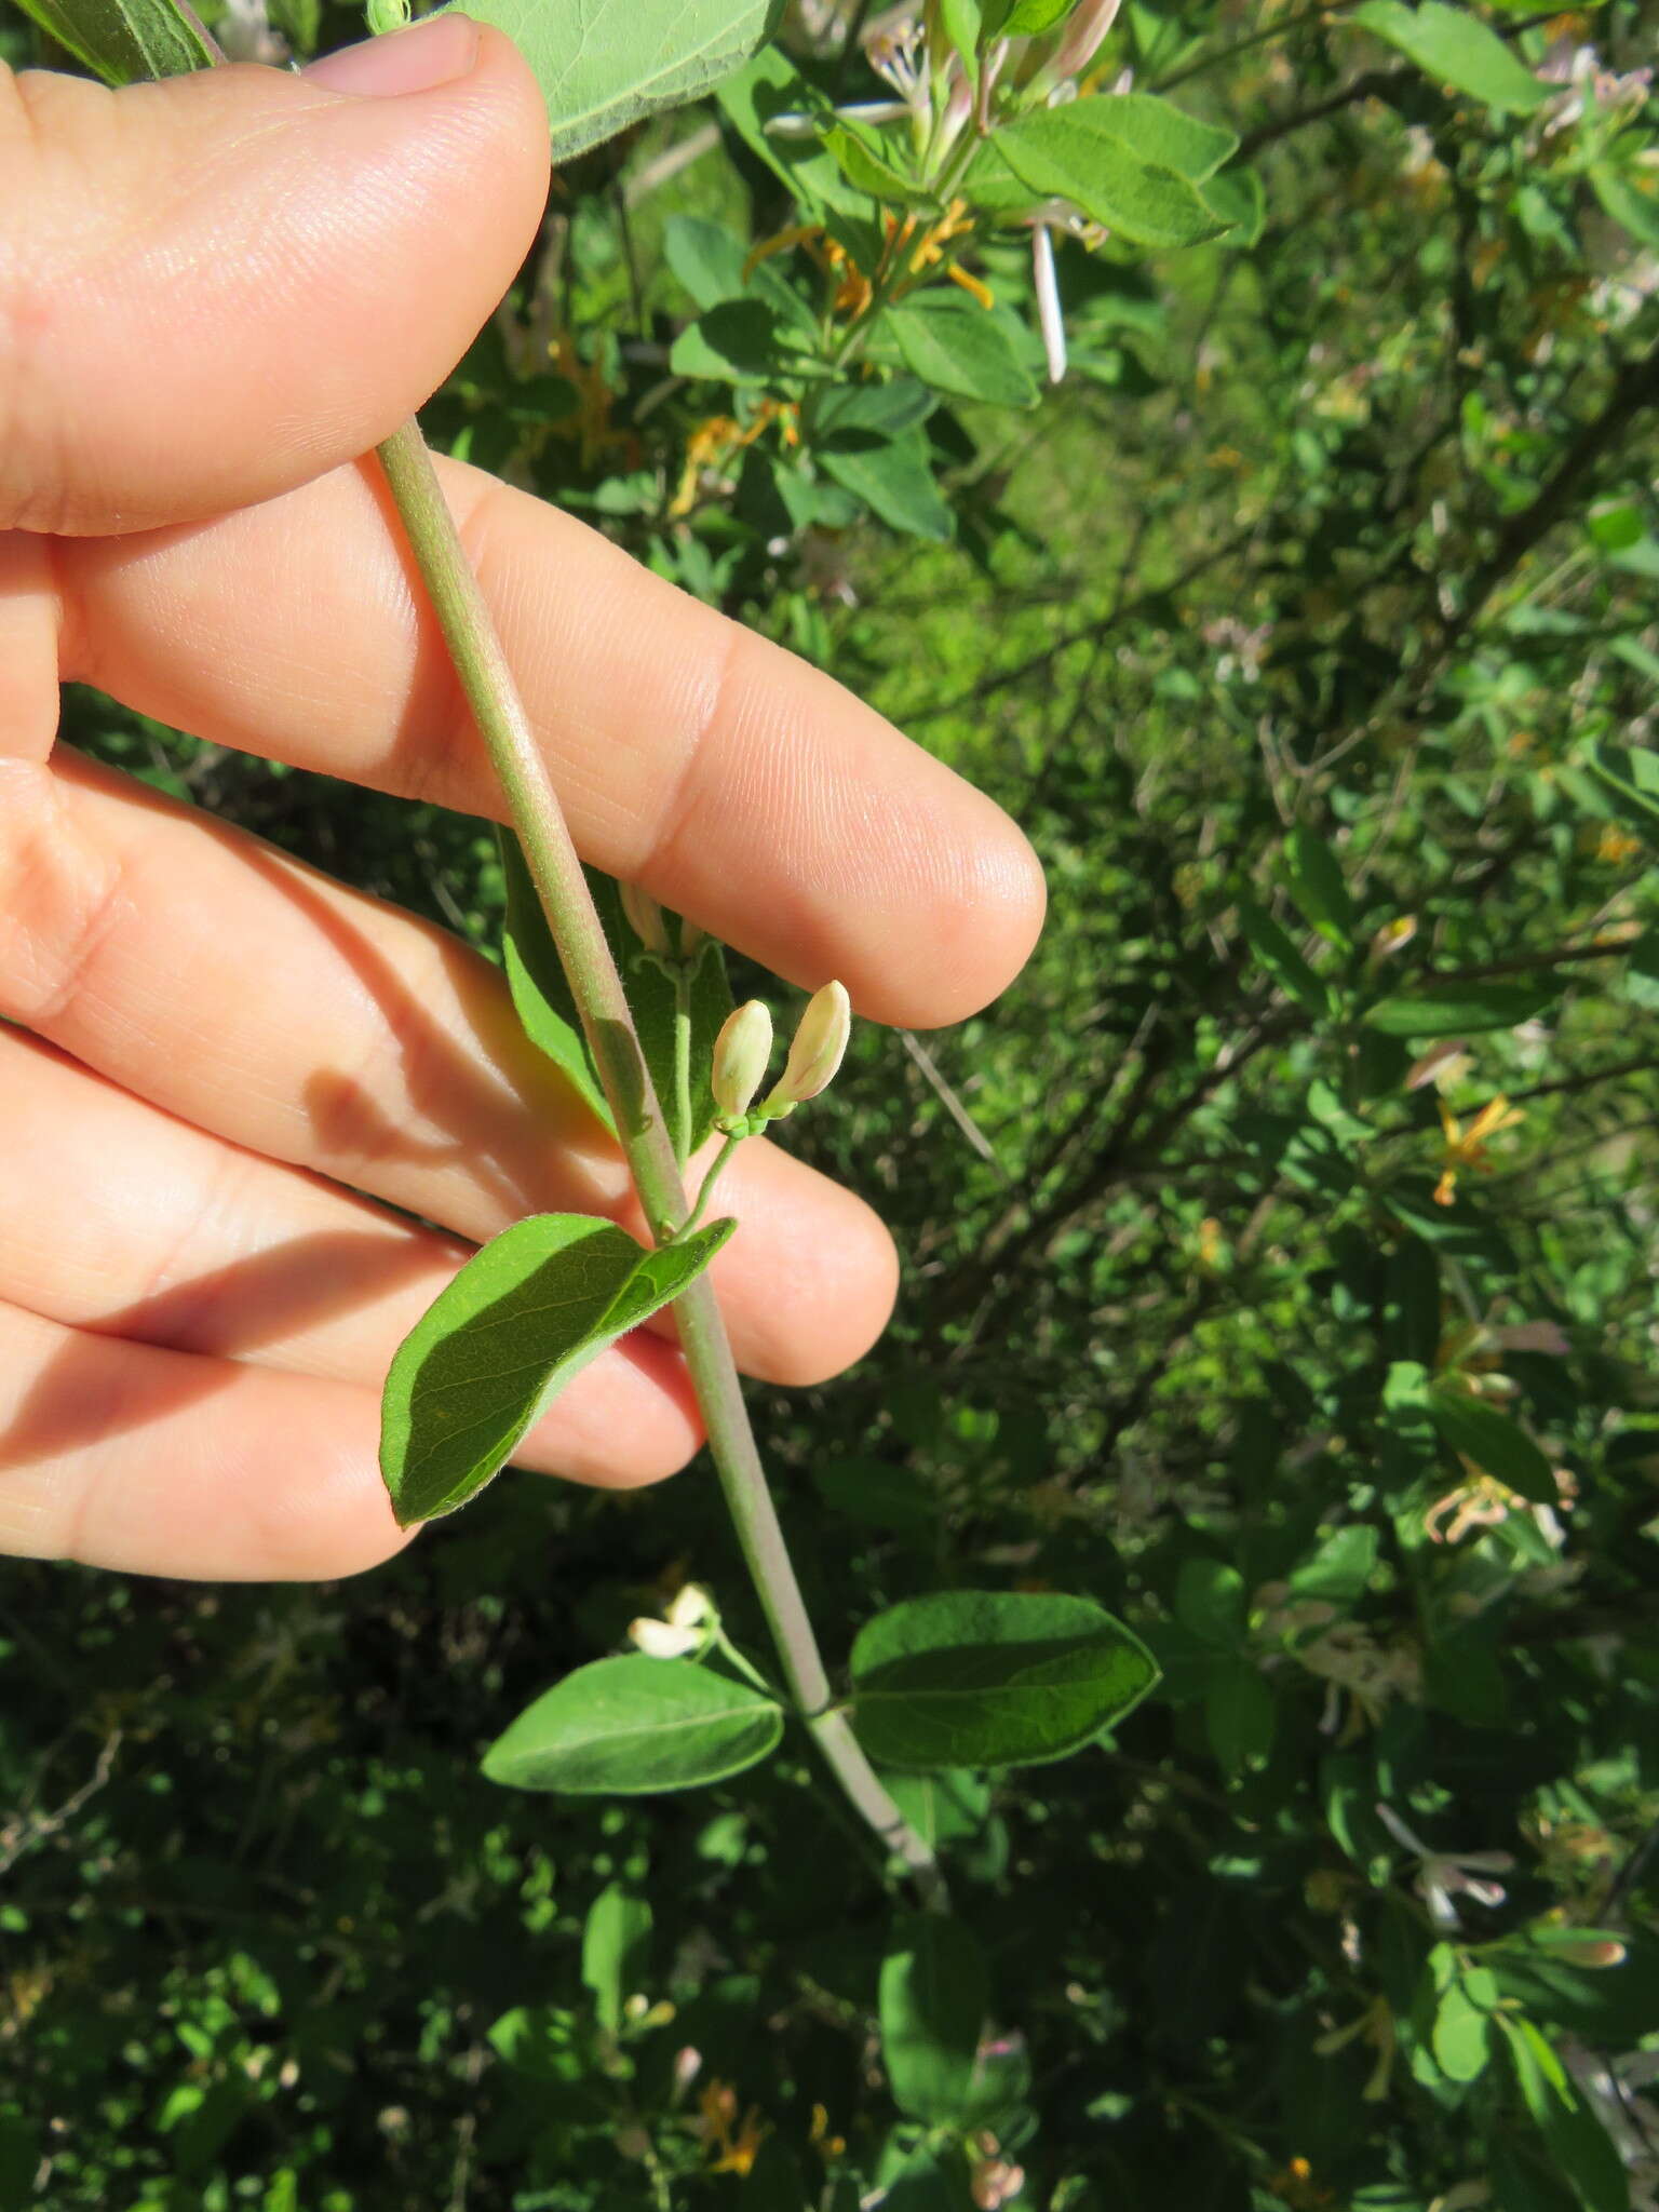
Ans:
{"type": "MultiPolygon", "coordinates": [[[[500,776],[513,830],[524,847],[531,880],[582,1015],[582,1033],[622,1133],[622,1148],[646,1221],[653,1237],[664,1243],[686,1219],[679,1161],[542,748],[535,743],[418,422],[409,420],[396,429],[378,447],[378,456],[467,706],[500,776]]],[[[909,1867],[922,1898],[938,1905],[945,1898],[945,1885],[933,1851],[887,1796],[852,1734],[847,1717],[834,1703],[801,1584],[794,1577],[783,1528],[765,1486],[765,1471],[743,1405],[743,1385],[708,1276],[701,1276],[675,1301],[675,1321],[726,1506],[737,1526],[743,1559],[765,1610],[796,1712],[856,1812],[909,1867]]]]}

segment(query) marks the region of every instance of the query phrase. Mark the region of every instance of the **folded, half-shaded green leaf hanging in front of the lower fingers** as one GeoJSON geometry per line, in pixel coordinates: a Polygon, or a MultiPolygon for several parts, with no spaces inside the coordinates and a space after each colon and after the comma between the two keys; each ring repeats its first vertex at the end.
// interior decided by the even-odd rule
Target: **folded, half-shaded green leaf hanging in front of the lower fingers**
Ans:
{"type": "Polygon", "coordinates": [[[380,1473],[398,1526],[453,1513],[493,1480],[571,1376],[708,1267],[737,1228],[641,1250],[591,1214],[531,1214],[467,1261],[385,1383],[380,1473]]]}

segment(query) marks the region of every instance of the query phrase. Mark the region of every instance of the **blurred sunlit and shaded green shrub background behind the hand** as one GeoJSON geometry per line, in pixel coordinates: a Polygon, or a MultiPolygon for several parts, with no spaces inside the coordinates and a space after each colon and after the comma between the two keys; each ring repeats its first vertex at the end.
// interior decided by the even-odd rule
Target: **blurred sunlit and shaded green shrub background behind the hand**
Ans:
{"type": "MultiPolygon", "coordinates": [[[[684,1579],[754,1628],[701,1467],[509,1478],[332,1588],[7,1568],[0,2208],[1659,2203],[1655,15],[1493,22],[1528,113],[1336,9],[1128,7],[1108,82],[1239,133],[1263,212],[1062,239],[1066,383],[933,394],[920,513],[805,473],[776,361],[684,352],[710,226],[741,268],[803,212],[730,104],[562,170],[429,418],[1048,865],[1015,991],[865,1031],[790,1126],[905,1294],[759,1394],[834,1657],[1053,1586],[1166,1670],[1066,1765],[902,1785],[991,1962],[980,2108],[896,2108],[887,1902],[805,1756],[476,1778],[684,1579]]],[[[876,97],[858,29],[783,42],[876,97]]],[[[1029,239],[973,272],[1040,376],[1029,239]]],[[[478,823],[93,695],[66,734],[493,940],[478,823]]]]}

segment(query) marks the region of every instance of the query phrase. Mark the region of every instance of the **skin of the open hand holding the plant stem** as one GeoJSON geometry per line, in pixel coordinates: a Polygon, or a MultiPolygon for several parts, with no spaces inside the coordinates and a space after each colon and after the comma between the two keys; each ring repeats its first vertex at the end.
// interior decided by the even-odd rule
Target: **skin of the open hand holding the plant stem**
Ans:
{"type": "MultiPolygon", "coordinates": [[[[467,18],[305,75],[0,69],[0,1551],[372,1566],[403,1542],[385,1367],[467,1250],[551,1208],[641,1232],[495,967],[55,745],[84,681],[500,816],[361,456],[471,343],[546,184],[535,82],[467,18]]],[[[953,1022],[1018,973],[1042,880],[998,807],[604,538],[440,467],[588,860],[874,1020],[953,1022]]],[[[743,1369],[856,1360],[896,1290],[876,1217],[763,1141],[721,1210],[743,1369]]],[[[697,1442],[664,1325],[522,1460],[626,1486],[697,1442]]]]}

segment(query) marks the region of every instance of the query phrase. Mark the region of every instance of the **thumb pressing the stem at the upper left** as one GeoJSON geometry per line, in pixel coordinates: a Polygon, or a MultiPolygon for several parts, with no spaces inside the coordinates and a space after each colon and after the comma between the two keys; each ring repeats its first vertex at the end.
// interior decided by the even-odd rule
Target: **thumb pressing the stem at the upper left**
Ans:
{"type": "Polygon", "coordinates": [[[305,75],[0,66],[0,529],[272,498],[385,438],[535,237],[542,95],[465,15],[305,75]]]}

